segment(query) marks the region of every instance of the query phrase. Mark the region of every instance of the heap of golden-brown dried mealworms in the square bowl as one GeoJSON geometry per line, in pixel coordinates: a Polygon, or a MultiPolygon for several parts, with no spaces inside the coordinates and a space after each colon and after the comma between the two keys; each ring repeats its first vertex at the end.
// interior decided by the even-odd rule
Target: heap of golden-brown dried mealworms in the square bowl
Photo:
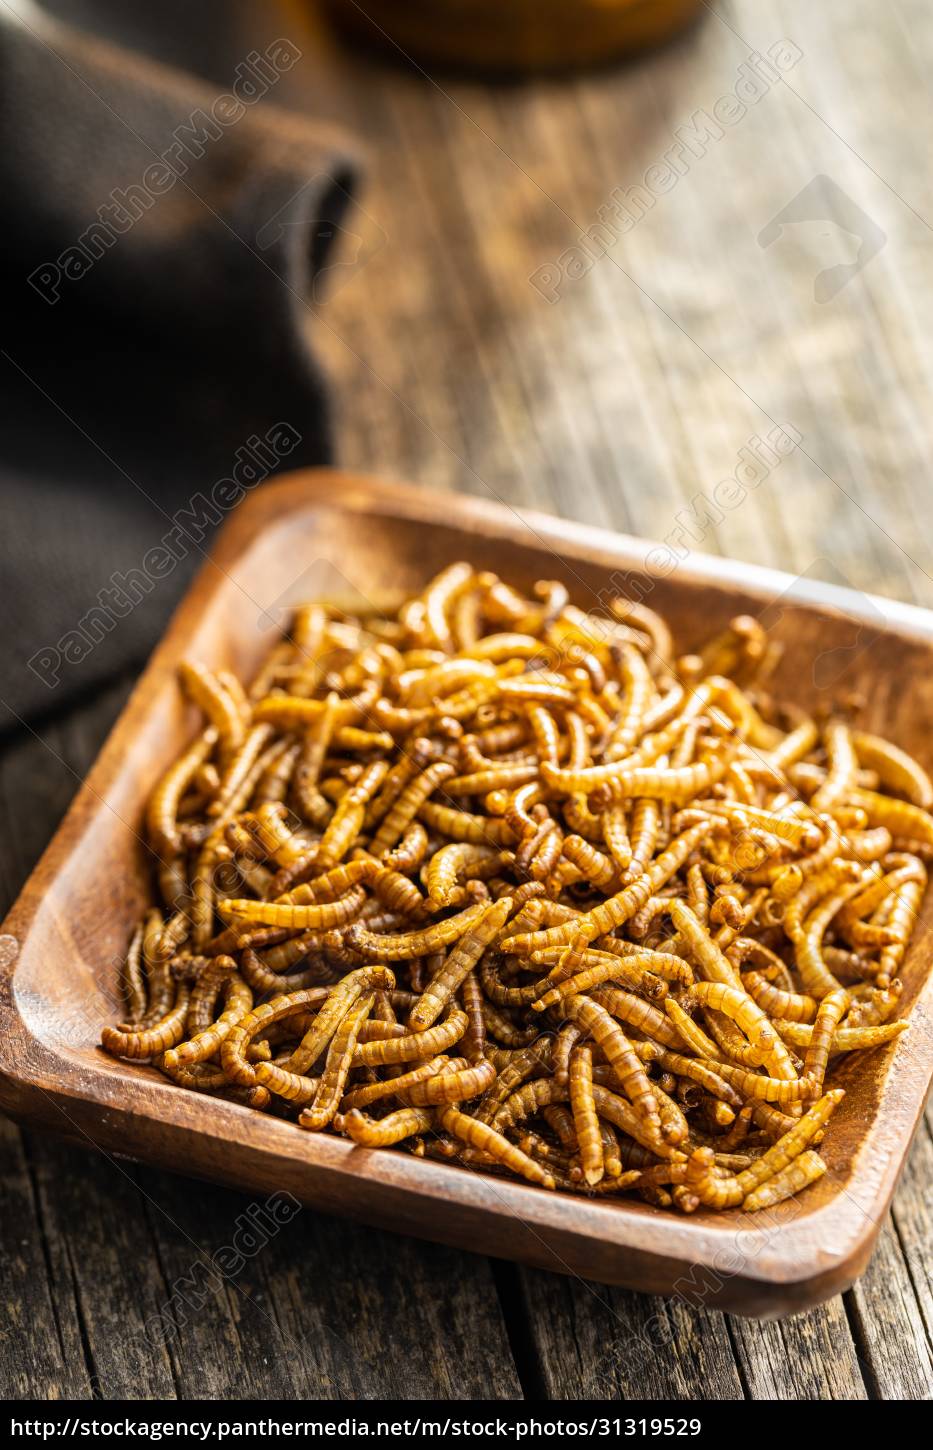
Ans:
{"type": "Polygon", "coordinates": [[[778,660],[750,616],[678,657],[644,603],[457,563],[395,613],[297,609],[250,689],[184,663],[103,1047],[546,1189],[795,1195],[833,1072],[907,1025],[933,787],[778,660]]]}

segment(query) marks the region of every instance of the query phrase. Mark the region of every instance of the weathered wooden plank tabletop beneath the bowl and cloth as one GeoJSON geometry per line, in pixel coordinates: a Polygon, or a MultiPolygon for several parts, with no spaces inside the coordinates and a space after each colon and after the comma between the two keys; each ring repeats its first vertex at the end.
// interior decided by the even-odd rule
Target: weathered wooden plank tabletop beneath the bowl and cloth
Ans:
{"type": "MultiPolygon", "coordinates": [[[[924,0],[720,0],[638,67],[501,88],[348,57],[297,4],[218,7],[210,52],[192,55],[184,12],[160,7],[155,54],[222,80],[231,57],[295,38],[276,99],[371,144],[364,215],[345,222],[355,262],[309,309],[344,464],[933,605],[924,0]],[[752,86],[743,61],[782,39],[800,57],[752,86]],[[762,90],[744,115],[737,83],[762,90]],[[712,135],[670,154],[696,112],[712,135]],[[640,219],[601,215],[631,187],[640,219]],[[601,222],[589,257],[569,252],[601,222]],[[736,497],[712,490],[775,423],[800,432],[794,454],[740,503],[704,505],[736,497]]],[[[126,686],[9,742],[4,903],[126,686]]],[[[770,1324],[311,1211],[194,1306],[192,1276],[248,1199],[9,1124],[0,1154],[6,1395],[933,1392],[929,1124],[862,1282],[770,1324]],[[131,1369],[122,1344],[147,1321],[164,1331],[131,1369]]]]}

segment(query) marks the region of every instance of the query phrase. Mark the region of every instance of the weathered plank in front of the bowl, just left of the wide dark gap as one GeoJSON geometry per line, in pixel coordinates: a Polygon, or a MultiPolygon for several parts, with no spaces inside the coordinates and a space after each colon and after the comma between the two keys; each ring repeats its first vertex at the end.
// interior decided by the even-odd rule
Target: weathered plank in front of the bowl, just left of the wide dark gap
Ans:
{"type": "Polygon", "coordinates": [[[181,1398],[519,1393],[486,1260],[148,1169],[139,1183],[181,1398]]]}

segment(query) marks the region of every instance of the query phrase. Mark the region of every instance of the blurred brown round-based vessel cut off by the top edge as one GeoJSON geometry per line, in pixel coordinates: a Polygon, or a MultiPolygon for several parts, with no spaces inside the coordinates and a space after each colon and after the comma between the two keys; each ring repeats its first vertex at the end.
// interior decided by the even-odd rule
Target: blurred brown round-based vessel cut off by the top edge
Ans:
{"type": "Polygon", "coordinates": [[[342,30],[421,65],[578,70],[636,55],[682,30],[702,0],[328,0],[342,30]]]}

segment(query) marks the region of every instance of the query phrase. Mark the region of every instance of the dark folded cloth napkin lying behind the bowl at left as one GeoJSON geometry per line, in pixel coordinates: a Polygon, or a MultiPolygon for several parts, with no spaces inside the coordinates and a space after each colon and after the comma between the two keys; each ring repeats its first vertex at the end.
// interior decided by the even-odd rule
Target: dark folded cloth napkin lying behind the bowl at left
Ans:
{"type": "Polygon", "coordinates": [[[4,728],[141,663],[235,499],[329,460],[306,300],[357,162],[263,100],[287,42],[223,91],[0,17],[4,728]]]}

